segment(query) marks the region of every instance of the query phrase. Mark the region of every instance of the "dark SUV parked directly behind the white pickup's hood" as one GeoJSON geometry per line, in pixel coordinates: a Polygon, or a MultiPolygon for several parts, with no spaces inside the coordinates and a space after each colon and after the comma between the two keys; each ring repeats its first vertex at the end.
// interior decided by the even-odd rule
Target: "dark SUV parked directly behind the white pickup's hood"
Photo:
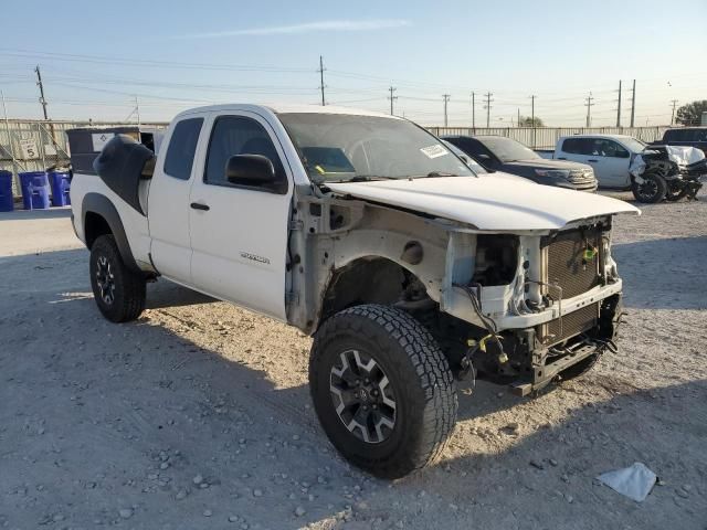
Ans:
{"type": "Polygon", "coordinates": [[[590,166],[547,160],[519,141],[503,136],[444,136],[489,171],[505,171],[539,184],[578,191],[595,191],[597,179],[590,166]]]}

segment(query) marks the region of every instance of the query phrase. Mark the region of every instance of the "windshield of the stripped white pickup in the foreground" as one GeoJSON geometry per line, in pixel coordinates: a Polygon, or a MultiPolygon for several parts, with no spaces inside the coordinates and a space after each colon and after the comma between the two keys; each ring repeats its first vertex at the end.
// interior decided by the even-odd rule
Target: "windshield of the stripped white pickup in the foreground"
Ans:
{"type": "Polygon", "coordinates": [[[404,119],[317,113],[278,118],[316,183],[474,174],[439,139],[404,119]]]}

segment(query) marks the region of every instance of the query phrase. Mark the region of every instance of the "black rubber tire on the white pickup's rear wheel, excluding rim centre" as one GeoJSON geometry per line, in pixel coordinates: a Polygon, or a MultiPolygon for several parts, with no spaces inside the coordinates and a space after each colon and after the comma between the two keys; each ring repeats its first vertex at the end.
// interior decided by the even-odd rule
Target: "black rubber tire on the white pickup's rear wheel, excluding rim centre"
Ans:
{"type": "Polygon", "coordinates": [[[125,265],[113,235],[102,235],[94,242],[89,273],[94,299],[104,317],[113,322],[127,322],[140,316],[145,309],[145,277],[125,265]],[[106,264],[109,264],[114,285],[108,300],[103,296],[98,279],[98,273],[106,264]]]}

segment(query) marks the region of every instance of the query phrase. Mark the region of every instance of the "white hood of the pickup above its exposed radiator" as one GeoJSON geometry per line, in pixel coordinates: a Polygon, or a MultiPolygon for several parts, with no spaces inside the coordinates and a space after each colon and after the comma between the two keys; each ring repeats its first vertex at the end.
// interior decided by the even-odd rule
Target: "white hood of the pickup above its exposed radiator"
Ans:
{"type": "Polygon", "coordinates": [[[598,215],[641,213],[616,199],[498,176],[327,182],[326,186],[339,195],[424,212],[489,231],[556,230],[598,215]]]}

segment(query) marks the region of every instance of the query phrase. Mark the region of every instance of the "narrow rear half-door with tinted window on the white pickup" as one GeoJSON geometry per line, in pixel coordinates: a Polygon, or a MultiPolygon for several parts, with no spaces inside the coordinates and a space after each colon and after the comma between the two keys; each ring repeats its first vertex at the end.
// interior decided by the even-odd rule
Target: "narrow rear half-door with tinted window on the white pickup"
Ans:
{"type": "Polygon", "coordinates": [[[148,194],[152,263],[160,274],[184,285],[191,285],[189,194],[203,121],[202,116],[186,116],[173,124],[160,149],[166,148],[167,153],[158,157],[148,194]]]}

